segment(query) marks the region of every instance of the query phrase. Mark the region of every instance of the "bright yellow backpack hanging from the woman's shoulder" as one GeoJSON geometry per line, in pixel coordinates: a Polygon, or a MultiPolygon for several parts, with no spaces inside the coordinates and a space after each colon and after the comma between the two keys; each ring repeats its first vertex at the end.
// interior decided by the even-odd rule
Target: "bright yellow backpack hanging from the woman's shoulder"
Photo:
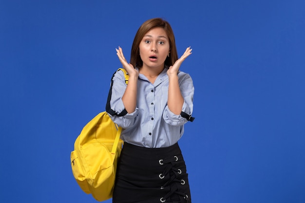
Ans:
{"type": "MultiPolygon", "coordinates": [[[[128,75],[124,69],[126,84],[128,75]]],[[[121,127],[106,111],[97,114],[82,129],[71,152],[71,167],[77,184],[97,201],[112,198],[117,159],[121,153],[121,127]]]]}

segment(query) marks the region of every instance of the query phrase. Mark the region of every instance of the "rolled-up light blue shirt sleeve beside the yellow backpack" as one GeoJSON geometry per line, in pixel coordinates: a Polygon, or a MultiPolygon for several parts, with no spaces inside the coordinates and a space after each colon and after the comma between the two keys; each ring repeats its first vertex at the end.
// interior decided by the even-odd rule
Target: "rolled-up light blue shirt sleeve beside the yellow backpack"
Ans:
{"type": "Polygon", "coordinates": [[[108,94],[106,111],[111,119],[123,129],[128,129],[135,125],[138,109],[132,113],[127,113],[122,101],[122,96],[126,90],[125,76],[122,71],[117,71],[111,81],[111,86],[108,94]],[[126,113],[123,113],[126,111],[126,113]],[[122,114],[122,115],[121,115],[122,114]]]}

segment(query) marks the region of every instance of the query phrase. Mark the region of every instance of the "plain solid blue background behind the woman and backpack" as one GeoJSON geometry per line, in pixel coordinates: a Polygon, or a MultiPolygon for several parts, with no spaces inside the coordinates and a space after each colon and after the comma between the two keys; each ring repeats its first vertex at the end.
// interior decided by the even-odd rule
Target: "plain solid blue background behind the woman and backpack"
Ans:
{"type": "Polygon", "coordinates": [[[70,152],[155,17],[193,48],[193,203],[305,203],[304,0],[0,0],[1,203],[95,202],[70,152]]]}

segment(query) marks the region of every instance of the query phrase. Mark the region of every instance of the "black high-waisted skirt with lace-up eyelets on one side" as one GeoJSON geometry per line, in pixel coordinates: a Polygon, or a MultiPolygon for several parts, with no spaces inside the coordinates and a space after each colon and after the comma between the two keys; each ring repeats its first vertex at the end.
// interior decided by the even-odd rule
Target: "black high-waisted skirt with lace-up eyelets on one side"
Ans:
{"type": "Polygon", "coordinates": [[[113,203],[191,203],[178,144],[144,148],[124,143],[116,170],[113,203]]]}

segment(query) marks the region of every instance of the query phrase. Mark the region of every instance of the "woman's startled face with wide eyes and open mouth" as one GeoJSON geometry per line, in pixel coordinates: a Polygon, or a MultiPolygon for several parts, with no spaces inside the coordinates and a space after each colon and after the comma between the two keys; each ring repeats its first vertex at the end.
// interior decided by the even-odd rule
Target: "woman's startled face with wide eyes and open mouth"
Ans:
{"type": "Polygon", "coordinates": [[[140,42],[139,50],[143,67],[164,68],[164,61],[170,52],[170,41],[165,30],[156,27],[148,31],[140,42]]]}

